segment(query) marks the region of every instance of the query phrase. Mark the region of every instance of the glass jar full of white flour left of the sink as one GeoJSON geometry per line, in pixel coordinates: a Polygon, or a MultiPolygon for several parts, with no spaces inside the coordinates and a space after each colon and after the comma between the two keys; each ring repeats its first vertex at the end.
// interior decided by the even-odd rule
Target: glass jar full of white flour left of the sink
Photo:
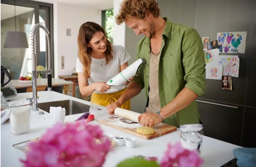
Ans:
{"type": "Polygon", "coordinates": [[[30,105],[27,100],[9,103],[11,134],[24,134],[30,130],[30,105]]]}

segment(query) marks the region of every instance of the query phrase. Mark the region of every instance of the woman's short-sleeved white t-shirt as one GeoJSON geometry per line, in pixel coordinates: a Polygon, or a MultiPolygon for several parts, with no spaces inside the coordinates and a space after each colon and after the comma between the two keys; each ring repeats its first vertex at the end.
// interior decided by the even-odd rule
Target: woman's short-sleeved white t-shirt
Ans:
{"type": "MultiPolygon", "coordinates": [[[[90,74],[91,77],[88,78],[89,85],[93,84],[94,82],[108,82],[111,78],[120,72],[120,65],[126,63],[131,58],[129,53],[121,45],[113,45],[112,55],[113,59],[109,61],[109,64],[106,64],[105,58],[94,59],[92,57],[90,74]]],[[[83,65],[78,58],[76,61],[76,72],[83,72],[83,65]]],[[[106,93],[118,92],[124,88],[125,85],[111,86],[111,88],[106,93]]],[[[96,90],[94,92],[100,93],[96,90]]]]}

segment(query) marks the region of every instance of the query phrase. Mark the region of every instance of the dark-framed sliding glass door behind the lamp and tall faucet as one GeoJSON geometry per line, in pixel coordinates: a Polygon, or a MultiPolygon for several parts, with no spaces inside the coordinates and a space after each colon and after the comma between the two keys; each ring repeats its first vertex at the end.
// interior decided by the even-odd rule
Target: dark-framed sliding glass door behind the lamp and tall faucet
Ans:
{"type": "MultiPolygon", "coordinates": [[[[50,31],[51,52],[53,53],[53,29],[50,17],[51,4],[32,2],[25,0],[2,0],[1,1],[1,65],[8,68],[12,79],[20,76],[30,76],[32,72],[31,61],[31,31],[36,23],[41,23],[50,31]],[[15,3],[15,5],[14,5],[15,3]],[[16,23],[16,24],[15,24],[16,23]],[[3,48],[6,31],[25,32],[29,48],[3,48]]],[[[48,47],[46,36],[42,29],[36,33],[37,65],[47,68],[48,47]]],[[[53,69],[53,54],[52,69],[53,69]]],[[[43,76],[45,77],[45,76],[43,76]]]]}

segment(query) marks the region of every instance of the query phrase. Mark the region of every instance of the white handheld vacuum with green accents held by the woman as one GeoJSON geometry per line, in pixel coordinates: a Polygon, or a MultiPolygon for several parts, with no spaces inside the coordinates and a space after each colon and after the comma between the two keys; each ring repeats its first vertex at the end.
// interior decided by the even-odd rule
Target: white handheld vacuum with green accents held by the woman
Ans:
{"type": "Polygon", "coordinates": [[[143,59],[140,58],[135,61],[133,64],[128,66],[126,69],[121,71],[119,74],[114,76],[111,80],[109,80],[106,84],[110,86],[121,86],[126,83],[131,77],[134,77],[138,71],[138,68],[143,63],[143,59]]]}

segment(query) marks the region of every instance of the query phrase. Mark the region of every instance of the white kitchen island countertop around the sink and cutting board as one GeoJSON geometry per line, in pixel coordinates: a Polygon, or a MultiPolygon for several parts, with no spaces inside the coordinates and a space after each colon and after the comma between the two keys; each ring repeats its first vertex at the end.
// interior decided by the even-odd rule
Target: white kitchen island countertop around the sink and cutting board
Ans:
{"type": "MultiPolygon", "coordinates": [[[[51,102],[51,101],[60,101],[60,100],[74,100],[80,103],[85,103],[90,105],[90,102],[70,97],[68,95],[60,94],[57,92],[47,92],[41,91],[38,92],[38,103],[51,102]]],[[[32,97],[32,92],[30,93],[20,93],[18,96],[13,99],[26,99],[27,97],[32,97]]],[[[120,161],[123,161],[126,158],[133,157],[134,155],[143,155],[143,156],[154,156],[158,160],[161,160],[165,150],[167,149],[167,144],[170,142],[172,144],[180,141],[180,130],[172,132],[170,134],[163,135],[161,137],[144,140],[138,138],[131,134],[116,130],[112,127],[102,125],[97,122],[97,119],[108,117],[106,112],[106,107],[99,106],[102,111],[99,111],[99,116],[95,116],[95,120],[90,122],[91,124],[98,124],[101,126],[104,134],[113,134],[122,135],[124,137],[134,137],[136,138],[136,145],[134,148],[128,148],[126,146],[115,146],[113,150],[108,153],[104,167],[115,167],[120,161]]],[[[47,128],[52,127],[50,124],[50,114],[44,112],[43,115],[38,115],[38,113],[31,112],[30,115],[30,131],[22,135],[12,135],[10,133],[10,122],[6,122],[1,126],[1,167],[18,167],[22,166],[19,159],[25,159],[25,153],[17,148],[14,148],[12,145],[30,140],[31,138],[37,138],[42,136],[47,130],[47,128]]],[[[74,122],[82,114],[69,115],[66,116],[65,122],[74,122]]],[[[239,148],[230,143],[222,142],[213,138],[203,136],[202,142],[202,155],[204,159],[204,167],[219,167],[226,164],[228,161],[234,159],[233,149],[239,148]]]]}

